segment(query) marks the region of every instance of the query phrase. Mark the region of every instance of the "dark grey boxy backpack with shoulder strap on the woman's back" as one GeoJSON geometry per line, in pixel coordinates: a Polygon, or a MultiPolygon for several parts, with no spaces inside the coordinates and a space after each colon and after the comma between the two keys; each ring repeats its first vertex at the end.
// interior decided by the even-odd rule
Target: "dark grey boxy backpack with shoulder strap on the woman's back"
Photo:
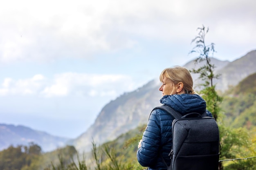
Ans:
{"type": "Polygon", "coordinates": [[[182,116],[168,105],[155,109],[165,110],[174,118],[173,145],[169,154],[171,165],[162,157],[168,170],[218,170],[219,129],[213,117],[207,117],[206,112],[182,116]]]}

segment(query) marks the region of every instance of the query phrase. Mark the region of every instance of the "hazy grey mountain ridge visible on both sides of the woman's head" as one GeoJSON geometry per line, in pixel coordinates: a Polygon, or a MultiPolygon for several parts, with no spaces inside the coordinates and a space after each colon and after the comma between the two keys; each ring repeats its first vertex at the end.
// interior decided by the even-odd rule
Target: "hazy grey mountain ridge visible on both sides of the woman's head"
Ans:
{"type": "MultiPolygon", "coordinates": [[[[217,89],[227,90],[229,85],[236,85],[250,73],[256,72],[255,59],[256,51],[252,51],[234,62],[220,61],[212,58],[211,62],[216,66],[215,73],[223,74],[220,80],[216,82],[217,89]],[[222,83],[225,83],[225,87],[222,87],[222,83]]],[[[184,66],[191,69],[195,65],[191,61],[184,66]]],[[[192,76],[195,79],[194,84],[197,84],[199,82],[196,79],[198,75],[192,76]]],[[[141,88],[125,93],[104,106],[94,124],[74,139],[73,145],[76,150],[79,152],[89,151],[92,146],[92,140],[96,144],[103,144],[106,141],[116,139],[119,135],[128,132],[130,129],[146,124],[151,110],[155,106],[160,105],[159,99],[162,96],[161,92],[158,91],[159,86],[159,80],[154,79],[141,88]]]]}

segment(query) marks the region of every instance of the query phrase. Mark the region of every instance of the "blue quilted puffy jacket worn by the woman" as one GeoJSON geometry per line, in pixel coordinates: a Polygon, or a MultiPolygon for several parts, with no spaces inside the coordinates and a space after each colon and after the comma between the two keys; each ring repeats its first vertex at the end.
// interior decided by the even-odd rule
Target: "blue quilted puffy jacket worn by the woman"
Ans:
{"type": "MultiPolygon", "coordinates": [[[[182,115],[191,112],[202,114],[206,110],[204,99],[195,94],[165,95],[160,102],[171,106],[182,115]]],[[[207,115],[212,117],[208,110],[207,115]]],[[[171,159],[168,154],[172,148],[172,122],[173,117],[164,110],[156,109],[151,113],[143,133],[141,147],[137,151],[137,159],[141,166],[148,167],[148,170],[166,170],[160,154],[170,166],[171,159]]]]}

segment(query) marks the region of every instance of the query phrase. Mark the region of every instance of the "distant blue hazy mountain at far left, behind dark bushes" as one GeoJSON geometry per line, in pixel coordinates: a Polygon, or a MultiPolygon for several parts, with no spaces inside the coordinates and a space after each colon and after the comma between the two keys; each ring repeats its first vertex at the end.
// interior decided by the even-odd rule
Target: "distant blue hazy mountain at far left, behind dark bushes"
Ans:
{"type": "Polygon", "coordinates": [[[39,145],[44,152],[48,152],[65,146],[68,140],[70,139],[52,136],[25,126],[0,124],[0,150],[8,148],[10,145],[28,145],[33,142],[39,145]]]}

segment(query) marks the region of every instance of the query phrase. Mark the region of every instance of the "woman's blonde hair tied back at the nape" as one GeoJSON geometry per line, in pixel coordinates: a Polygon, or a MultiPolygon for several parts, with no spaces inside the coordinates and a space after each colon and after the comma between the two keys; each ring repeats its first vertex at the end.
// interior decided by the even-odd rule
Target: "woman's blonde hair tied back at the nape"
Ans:
{"type": "Polygon", "coordinates": [[[165,68],[159,76],[160,82],[162,82],[164,76],[171,79],[174,84],[179,82],[183,83],[185,93],[197,94],[193,90],[193,79],[188,69],[182,66],[174,66],[171,68],[165,68]]]}

